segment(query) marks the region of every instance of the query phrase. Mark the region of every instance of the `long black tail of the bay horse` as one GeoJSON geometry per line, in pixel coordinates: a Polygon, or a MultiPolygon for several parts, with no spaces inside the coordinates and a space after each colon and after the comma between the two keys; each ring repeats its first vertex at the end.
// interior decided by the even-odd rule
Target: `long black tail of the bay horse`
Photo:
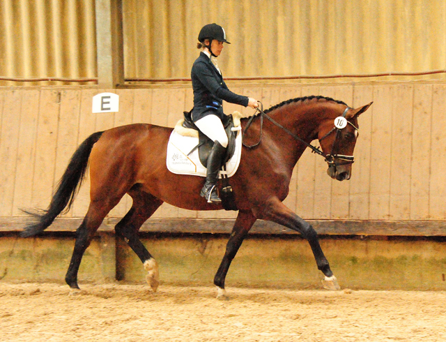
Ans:
{"type": "Polygon", "coordinates": [[[21,234],[22,237],[38,235],[47,229],[59,214],[64,214],[70,210],[82,181],[85,178],[91,149],[93,149],[93,145],[99,140],[102,133],[104,132],[93,133],[77,148],[57,185],[57,189],[47,210],[23,210],[26,214],[37,218],[38,222],[25,227],[21,234]]]}

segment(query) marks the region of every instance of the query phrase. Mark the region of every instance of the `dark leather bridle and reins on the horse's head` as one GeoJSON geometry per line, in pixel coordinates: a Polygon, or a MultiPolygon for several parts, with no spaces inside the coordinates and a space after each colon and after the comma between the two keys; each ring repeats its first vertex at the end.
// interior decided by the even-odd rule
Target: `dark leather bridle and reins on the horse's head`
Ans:
{"type": "MultiPolygon", "coordinates": [[[[259,102],[259,101],[257,101],[257,102],[259,102]]],[[[319,156],[323,156],[330,168],[331,167],[336,168],[337,166],[340,166],[340,165],[346,165],[346,164],[351,164],[351,163],[355,162],[354,156],[346,156],[344,154],[334,154],[333,153],[335,151],[335,149],[337,148],[337,144],[339,143],[339,136],[341,135],[341,130],[343,128],[345,128],[347,126],[347,124],[351,124],[351,126],[353,126],[353,128],[355,128],[356,131],[359,131],[359,128],[357,128],[355,125],[353,125],[350,121],[346,120],[346,114],[347,114],[347,111],[349,109],[351,109],[350,107],[347,106],[346,109],[344,110],[344,112],[341,114],[341,117],[337,117],[336,119],[334,119],[334,127],[327,134],[325,134],[323,137],[321,137],[321,139],[319,139],[319,142],[321,142],[326,137],[328,137],[331,133],[336,131],[336,137],[334,138],[331,152],[330,152],[330,154],[325,154],[325,153],[323,153],[323,151],[321,151],[321,149],[319,149],[318,147],[314,147],[312,144],[309,144],[305,140],[302,140],[300,137],[298,137],[298,135],[295,135],[293,132],[289,131],[289,129],[285,128],[284,126],[279,124],[277,121],[272,119],[272,117],[268,116],[268,114],[266,114],[266,112],[263,112],[263,104],[261,102],[259,102],[259,103],[260,103],[261,107],[256,108],[256,112],[258,112],[258,114],[260,114],[259,141],[256,142],[256,144],[252,144],[252,145],[247,145],[247,144],[245,144],[245,142],[243,142],[243,137],[245,136],[245,133],[247,132],[249,126],[251,126],[252,120],[254,119],[254,117],[256,117],[256,114],[254,114],[252,117],[249,118],[249,121],[247,122],[245,129],[243,130],[242,144],[244,147],[247,147],[248,149],[252,149],[260,144],[260,142],[262,140],[262,132],[263,132],[263,117],[266,117],[266,119],[270,120],[272,122],[272,124],[275,124],[277,127],[282,128],[283,131],[285,131],[286,133],[291,135],[291,137],[293,137],[295,140],[302,142],[302,144],[305,144],[305,146],[312,149],[313,153],[318,154],[319,156]],[[343,118],[343,119],[339,119],[339,118],[343,118]],[[339,120],[339,123],[342,121],[342,124],[337,124],[337,120],[339,120]],[[336,160],[340,160],[340,161],[344,161],[344,162],[337,163],[336,160]]]]}

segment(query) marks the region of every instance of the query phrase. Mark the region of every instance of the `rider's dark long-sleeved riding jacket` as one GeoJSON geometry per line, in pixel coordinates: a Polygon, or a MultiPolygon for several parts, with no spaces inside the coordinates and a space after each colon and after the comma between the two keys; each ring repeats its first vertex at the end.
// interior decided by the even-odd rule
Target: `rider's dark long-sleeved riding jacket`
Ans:
{"type": "Polygon", "coordinates": [[[204,52],[201,52],[194,61],[191,78],[192,89],[194,89],[193,121],[198,121],[208,114],[216,114],[222,119],[224,117],[223,100],[245,107],[248,105],[247,96],[237,95],[228,89],[222,75],[204,52]]]}

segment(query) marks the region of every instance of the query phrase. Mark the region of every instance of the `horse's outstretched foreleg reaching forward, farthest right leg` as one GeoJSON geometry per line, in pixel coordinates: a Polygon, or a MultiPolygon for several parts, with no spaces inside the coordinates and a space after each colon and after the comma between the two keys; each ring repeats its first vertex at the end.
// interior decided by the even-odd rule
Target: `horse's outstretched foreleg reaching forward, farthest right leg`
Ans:
{"type": "Polygon", "coordinates": [[[318,269],[325,275],[325,279],[322,281],[324,288],[328,288],[329,290],[339,290],[337,279],[330,269],[328,260],[325,258],[321,245],[319,244],[318,234],[312,225],[285,207],[282,202],[268,206],[266,217],[263,218],[284,225],[296,232],[300,232],[300,235],[307,239],[309,246],[312,248],[318,269]]]}

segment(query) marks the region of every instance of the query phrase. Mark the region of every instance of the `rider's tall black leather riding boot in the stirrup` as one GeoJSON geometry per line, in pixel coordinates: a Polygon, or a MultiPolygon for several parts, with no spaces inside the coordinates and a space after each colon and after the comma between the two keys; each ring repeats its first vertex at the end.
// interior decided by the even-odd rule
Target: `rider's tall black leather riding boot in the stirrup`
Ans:
{"type": "Polygon", "coordinates": [[[226,148],[222,147],[220,142],[215,141],[208,156],[206,182],[200,191],[201,197],[206,198],[208,203],[220,204],[222,202],[217,193],[217,179],[218,172],[220,172],[220,168],[222,167],[222,159],[225,151],[226,148]]]}

